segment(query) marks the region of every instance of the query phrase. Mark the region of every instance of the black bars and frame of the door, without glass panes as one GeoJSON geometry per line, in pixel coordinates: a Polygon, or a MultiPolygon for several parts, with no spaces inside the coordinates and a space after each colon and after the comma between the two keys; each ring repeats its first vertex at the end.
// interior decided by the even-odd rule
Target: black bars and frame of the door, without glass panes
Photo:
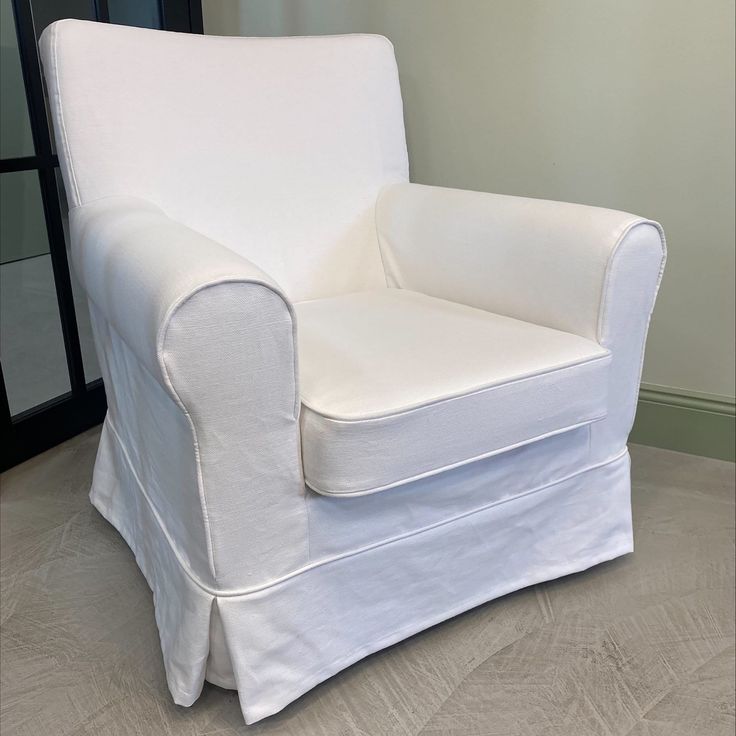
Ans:
{"type": "MultiPolygon", "coordinates": [[[[15,171],[38,173],[71,390],[11,416],[0,364],[0,470],[7,470],[99,424],[107,410],[102,380],[87,383],[84,377],[57,189],[59,160],[53,152],[46,117],[31,0],[12,0],[12,5],[35,155],[0,160],[0,174],[15,171]]],[[[158,0],[158,5],[164,30],[203,33],[200,0],[158,0]]],[[[94,0],[94,9],[98,21],[109,21],[107,0],[94,0]]]]}

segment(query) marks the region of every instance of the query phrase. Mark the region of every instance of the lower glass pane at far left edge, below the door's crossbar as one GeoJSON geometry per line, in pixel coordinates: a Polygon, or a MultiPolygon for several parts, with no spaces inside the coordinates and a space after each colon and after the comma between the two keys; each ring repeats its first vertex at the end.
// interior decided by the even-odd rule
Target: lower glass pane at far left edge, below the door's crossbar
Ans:
{"type": "Polygon", "coordinates": [[[11,414],[70,390],[35,171],[0,176],[0,357],[11,414]]]}

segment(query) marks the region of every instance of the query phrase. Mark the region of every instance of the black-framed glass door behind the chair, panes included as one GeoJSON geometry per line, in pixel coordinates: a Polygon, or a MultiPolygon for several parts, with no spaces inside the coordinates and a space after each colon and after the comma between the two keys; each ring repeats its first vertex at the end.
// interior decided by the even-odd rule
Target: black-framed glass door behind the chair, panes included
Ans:
{"type": "Polygon", "coordinates": [[[202,33],[199,0],[0,0],[0,469],[102,421],[89,313],[38,58],[51,22],[202,33]]]}

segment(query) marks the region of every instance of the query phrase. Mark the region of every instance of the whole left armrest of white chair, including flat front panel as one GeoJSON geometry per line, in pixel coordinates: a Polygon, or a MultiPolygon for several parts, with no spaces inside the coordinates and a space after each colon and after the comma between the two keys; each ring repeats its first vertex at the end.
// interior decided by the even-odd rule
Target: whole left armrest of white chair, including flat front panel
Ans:
{"type": "Polygon", "coordinates": [[[248,260],[146,201],[101,199],[70,222],[108,426],[192,575],[232,591],[305,564],[288,299],[248,260]],[[194,549],[197,525],[205,541],[194,549]]]}

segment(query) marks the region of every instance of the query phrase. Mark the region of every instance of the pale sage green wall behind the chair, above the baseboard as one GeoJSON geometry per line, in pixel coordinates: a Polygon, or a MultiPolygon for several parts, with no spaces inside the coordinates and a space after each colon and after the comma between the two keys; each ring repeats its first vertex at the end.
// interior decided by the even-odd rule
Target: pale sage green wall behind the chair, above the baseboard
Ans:
{"type": "Polygon", "coordinates": [[[661,221],[644,381],[733,397],[731,0],[204,0],[229,35],[395,45],[412,180],[661,221]]]}

